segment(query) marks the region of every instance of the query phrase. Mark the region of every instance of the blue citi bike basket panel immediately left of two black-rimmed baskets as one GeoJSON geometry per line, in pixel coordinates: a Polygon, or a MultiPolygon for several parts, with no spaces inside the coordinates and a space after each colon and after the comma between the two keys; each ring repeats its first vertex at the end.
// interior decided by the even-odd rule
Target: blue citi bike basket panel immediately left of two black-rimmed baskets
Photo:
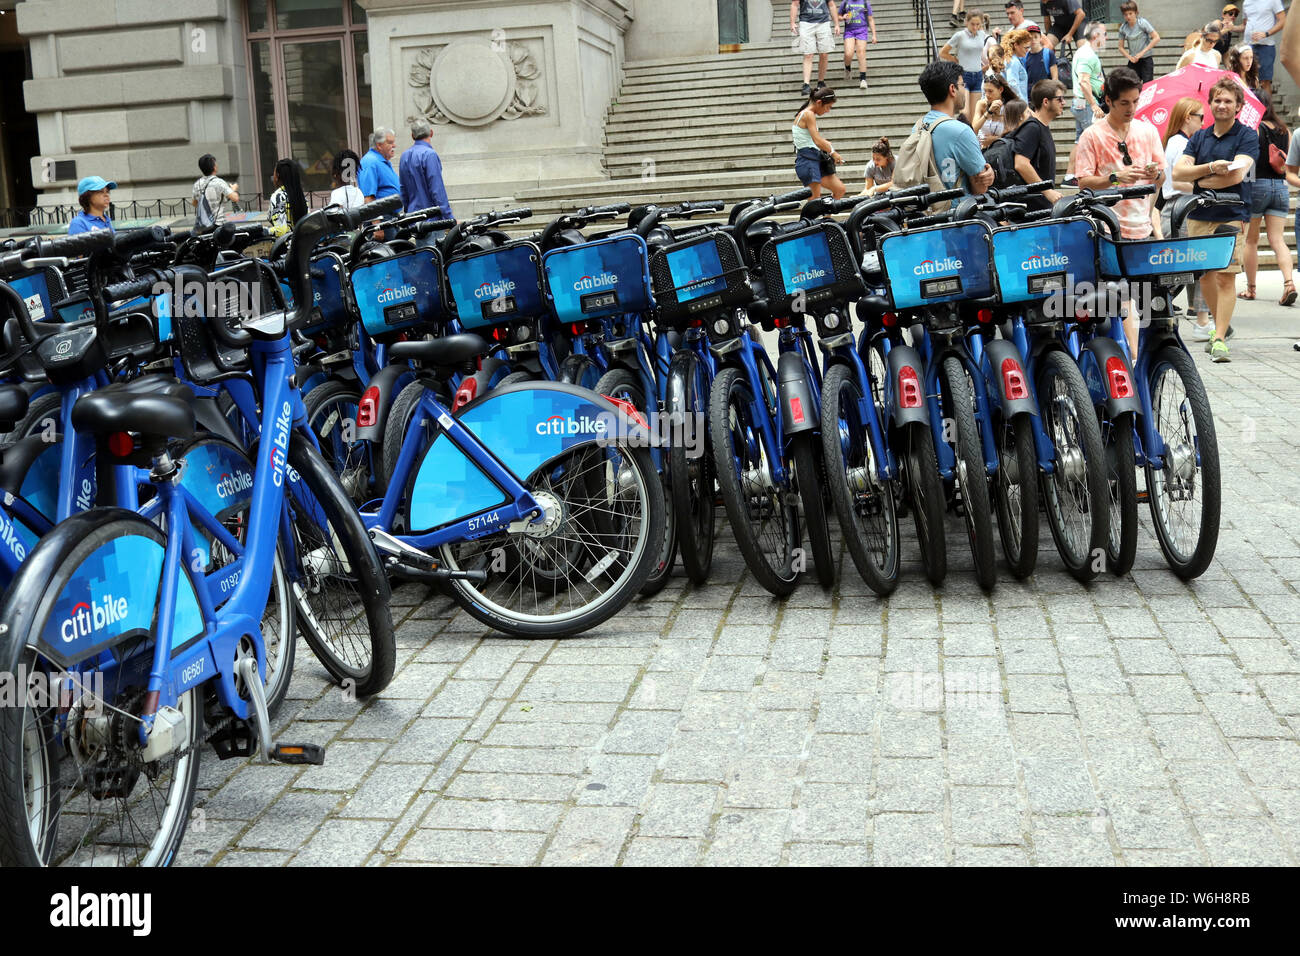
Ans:
{"type": "Polygon", "coordinates": [[[546,298],[562,323],[647,312],[650,252],[640,235],[615,235],[542,256],[546,298]]]}

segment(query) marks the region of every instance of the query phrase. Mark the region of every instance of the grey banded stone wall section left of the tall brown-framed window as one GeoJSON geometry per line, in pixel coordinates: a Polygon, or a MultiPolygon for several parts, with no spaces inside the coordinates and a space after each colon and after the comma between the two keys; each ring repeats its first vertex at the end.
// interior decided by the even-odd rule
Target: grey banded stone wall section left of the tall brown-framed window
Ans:
{"type": "Polygon", "coordinates": [[[252,172],[235,0],[25,0],[17,17],[43,206],[75,204],[77,179],[91,174],[116,179],[118,202],[188,198],[204,152],[230,182],[252,172]]]}

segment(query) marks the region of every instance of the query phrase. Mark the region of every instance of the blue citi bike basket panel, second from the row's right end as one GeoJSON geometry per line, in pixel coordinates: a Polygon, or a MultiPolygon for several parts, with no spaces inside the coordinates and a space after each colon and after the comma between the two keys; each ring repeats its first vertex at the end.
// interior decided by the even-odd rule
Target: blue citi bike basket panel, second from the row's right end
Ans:
{"type": "Polygon", "coordinates": [[[1086,219],[993,230],[993,268],[1002,302],[1045,299],[1096,285],[1097,243],[1086,219]]]}

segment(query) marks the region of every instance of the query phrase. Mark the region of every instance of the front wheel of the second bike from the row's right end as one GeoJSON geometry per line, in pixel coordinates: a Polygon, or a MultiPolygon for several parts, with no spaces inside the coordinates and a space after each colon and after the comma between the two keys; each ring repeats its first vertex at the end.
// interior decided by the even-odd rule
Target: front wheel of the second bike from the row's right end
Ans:
{"type": "Polygon", "coordinates": [[[1066,570],[1079,581],[1091,581],[1105,566],[1110,537],[1101,428],[1074,359],[1054,349],[1041,363],[1039,407],[1056,449],[1056,468],[1041,479],[1048,527],[1066,570]]]}

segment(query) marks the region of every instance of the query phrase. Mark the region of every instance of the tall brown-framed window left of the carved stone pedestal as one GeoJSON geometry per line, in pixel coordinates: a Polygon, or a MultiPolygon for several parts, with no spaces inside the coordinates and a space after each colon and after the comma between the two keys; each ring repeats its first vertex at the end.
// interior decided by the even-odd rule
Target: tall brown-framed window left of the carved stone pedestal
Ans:
{"type": "Polygon", "coordinates": [[[257,189],[269,195],[278,159],[303,189],[328,193],[339,150],[365,152],[373,108],[365,12],[356,0],[247,0],[248,73],[257,189]]]}

